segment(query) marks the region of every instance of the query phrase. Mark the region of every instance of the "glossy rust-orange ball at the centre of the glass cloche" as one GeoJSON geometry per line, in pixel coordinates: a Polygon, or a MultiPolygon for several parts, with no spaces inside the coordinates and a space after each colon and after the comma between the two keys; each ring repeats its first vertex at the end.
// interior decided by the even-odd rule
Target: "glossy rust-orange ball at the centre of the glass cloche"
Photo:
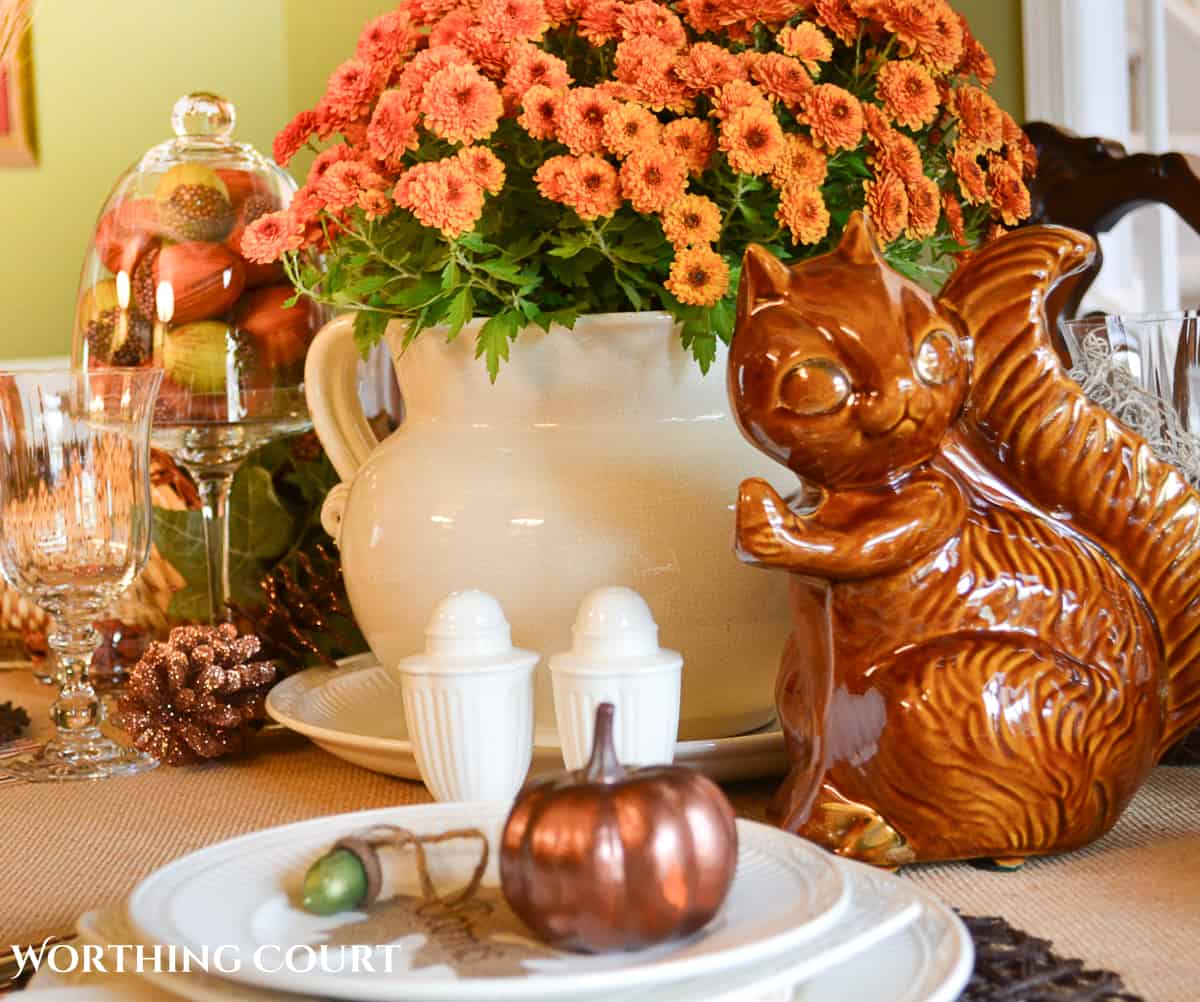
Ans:
{"type": "Polygon", "coordinates": [[[228,247],[199,240],[170,244],[154,262],[155,314],[173,324],[211,319],[238,301],[245,284],[241,259],[228,247]]]}

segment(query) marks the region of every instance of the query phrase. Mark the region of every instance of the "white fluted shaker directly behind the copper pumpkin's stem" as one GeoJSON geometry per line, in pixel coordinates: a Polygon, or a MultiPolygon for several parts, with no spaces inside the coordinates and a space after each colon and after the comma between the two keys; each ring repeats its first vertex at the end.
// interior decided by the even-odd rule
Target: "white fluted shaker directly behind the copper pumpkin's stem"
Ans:
{"type": "Polygon", "coordinates": [[[632,588],[598,588],[580,605],[571,649],[550,659],[554,716],[568,769],[592,752],[596,707],[612,703],[617,757],[629,766],[674,758],[683,655],[659,647],[659,628],[632,588]]]}

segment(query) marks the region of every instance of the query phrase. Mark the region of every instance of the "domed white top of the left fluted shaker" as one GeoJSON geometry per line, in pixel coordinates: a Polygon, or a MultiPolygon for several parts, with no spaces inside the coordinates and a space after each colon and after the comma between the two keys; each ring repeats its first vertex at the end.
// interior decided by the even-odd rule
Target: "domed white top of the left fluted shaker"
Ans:
{"type": "Polygon", "coordinates": [[[425,628],[425,653],[400,662],[402,672],[460,674],[538,664],[538,655],[512,646],[500,604],[486,592],[454,592],[433,608],[425,628]]]}

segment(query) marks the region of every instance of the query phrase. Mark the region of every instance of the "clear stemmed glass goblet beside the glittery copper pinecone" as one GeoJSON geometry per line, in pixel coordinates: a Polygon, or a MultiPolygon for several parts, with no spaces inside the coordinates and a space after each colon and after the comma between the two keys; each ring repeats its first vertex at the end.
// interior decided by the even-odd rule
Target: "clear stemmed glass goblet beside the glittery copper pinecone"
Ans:
{"type": "Polygon", "coordinates": [[[0,372],[0,574],[54,618],[58,726],[4,770],[32,780],[102,779],[154,758],[100,730],[88,679],[91,625],[150,553],[150,418],[157,370],[0,372]]]}

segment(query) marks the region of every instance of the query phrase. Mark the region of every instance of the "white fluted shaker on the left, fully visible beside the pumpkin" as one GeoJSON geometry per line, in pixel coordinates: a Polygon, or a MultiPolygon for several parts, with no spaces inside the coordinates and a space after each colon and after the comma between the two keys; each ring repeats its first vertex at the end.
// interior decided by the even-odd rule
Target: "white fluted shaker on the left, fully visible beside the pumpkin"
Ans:
{"type": "Polygon", "coordinates": [[[396,666],[421,779],[438,800],[511,800],[533,757],[533,670],[500,604],[455,592],[433,610],[425,653],[396,666]]]}

